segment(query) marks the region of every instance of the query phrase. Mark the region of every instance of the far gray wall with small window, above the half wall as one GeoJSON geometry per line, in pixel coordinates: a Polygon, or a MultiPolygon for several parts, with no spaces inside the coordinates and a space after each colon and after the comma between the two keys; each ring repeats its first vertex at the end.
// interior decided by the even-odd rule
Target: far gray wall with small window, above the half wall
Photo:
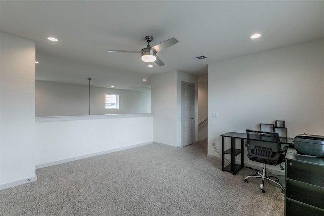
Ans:
{"type": "MultiPolygon", "coordinates": [[[[151,92],[90,88],[90,115],[151,113],[151,92]],[[105,94],[119,94],[119,109],[105,109],[105,94]]],[[[89,115],[89,86],[36,81],[36,117],[89,115]]]]}

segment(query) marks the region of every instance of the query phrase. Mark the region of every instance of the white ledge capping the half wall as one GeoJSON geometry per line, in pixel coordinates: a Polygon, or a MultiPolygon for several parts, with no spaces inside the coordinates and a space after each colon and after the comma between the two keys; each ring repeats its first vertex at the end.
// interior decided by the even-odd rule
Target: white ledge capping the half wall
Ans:
{"type": "Polygon", "coordinates": [[[109,118],[136,118],[151,117],[153,114],[105,114],[105,115],[79,115],[79,116],[49,116],[36,117],[36,122],[49,121],[75,121],[75,120],[92,120],[92,119],[109,119],[109,118]]]}

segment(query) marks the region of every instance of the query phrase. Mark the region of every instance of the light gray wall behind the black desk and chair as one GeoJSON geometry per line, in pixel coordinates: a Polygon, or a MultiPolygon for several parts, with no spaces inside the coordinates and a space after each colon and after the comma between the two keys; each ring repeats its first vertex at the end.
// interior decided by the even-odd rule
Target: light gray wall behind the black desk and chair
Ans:
{"type": "Polygon", "coordinates": [[[220,157],[221,134],[275,120],[286,121],[289,137],[324,135],[323,48],[321,39],[210,64],[208,154],[220,157]]]}

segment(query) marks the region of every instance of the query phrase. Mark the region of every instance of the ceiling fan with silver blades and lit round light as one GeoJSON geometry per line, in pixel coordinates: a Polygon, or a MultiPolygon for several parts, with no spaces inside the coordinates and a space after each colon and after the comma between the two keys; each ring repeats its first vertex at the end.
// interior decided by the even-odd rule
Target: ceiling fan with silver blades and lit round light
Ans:
{"type": "Polygon", "coordinates": [[[152,42],[153,37],[146,36],[144,38],[146,42],[148,42],[148,45],[146,48],[143,48],[141,51],[132,51],[132,50],[107,50],[108,53],[141,53],[142,60],[144,62],[155,62],[159,66],[163,66],[163,61],[158,58],[156,53],[160,52],[161,50],[164,50],[174,44],[177,44],[179,42],[176,38],[172,37],[166,41],[160,42],[159,44],[151,47],[150,42],[152,42]]]}

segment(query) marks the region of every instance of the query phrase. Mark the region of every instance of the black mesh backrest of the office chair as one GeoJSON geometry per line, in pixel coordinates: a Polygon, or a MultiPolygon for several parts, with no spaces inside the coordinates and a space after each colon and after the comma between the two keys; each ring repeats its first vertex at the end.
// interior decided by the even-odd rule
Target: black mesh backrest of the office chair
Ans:
{"type": "Polygon", "coordinates": [[[276,165],[281,153],[278,133],[247,130],[246,147],[250,160],[276,165]]]}

